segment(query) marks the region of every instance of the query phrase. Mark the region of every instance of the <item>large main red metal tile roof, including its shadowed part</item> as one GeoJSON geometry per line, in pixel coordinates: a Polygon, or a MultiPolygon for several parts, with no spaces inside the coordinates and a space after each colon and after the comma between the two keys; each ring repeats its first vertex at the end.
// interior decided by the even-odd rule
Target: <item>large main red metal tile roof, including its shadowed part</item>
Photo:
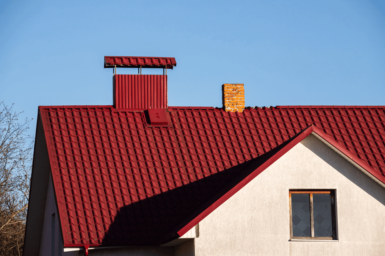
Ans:
{"type": "Polygon", "coordinates": [[[65,246],[176,238],[311,124],[385,176],[384,107],[169,107],[172,128],[148,127],[144,110],[112,106],[40,114],[65,246]]]}

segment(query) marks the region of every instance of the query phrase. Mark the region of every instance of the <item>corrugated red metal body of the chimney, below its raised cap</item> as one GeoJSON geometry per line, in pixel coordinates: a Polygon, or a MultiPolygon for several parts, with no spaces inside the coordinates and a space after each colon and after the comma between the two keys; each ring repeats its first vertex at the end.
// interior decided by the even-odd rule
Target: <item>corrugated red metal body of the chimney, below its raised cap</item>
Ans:
{"type": "Polygon", "coordinates": [[[117,109],[166,109],[167,75],[115,74],[112,78],[117,109]]]}

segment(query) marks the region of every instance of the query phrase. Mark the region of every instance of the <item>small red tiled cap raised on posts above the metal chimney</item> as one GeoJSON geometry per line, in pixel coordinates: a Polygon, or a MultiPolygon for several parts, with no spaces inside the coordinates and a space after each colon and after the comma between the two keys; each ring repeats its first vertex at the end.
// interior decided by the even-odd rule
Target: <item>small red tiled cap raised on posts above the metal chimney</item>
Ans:
{"type": "Polygon", "coordinates": [[[175,58],[135,57],[135,56],[104,56],[104,68],[173,68],[175,58]]]}

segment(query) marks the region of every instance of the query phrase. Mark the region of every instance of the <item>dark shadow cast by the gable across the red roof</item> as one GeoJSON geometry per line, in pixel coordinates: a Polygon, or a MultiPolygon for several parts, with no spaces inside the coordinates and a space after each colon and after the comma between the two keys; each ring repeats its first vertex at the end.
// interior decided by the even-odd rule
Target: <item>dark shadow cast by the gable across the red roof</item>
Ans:
{"type": "Polygon", "coordinates": [[[121,207],[102,244],[156,246],[178,238],[179,230],[302,132],[259,157],[121,207]]]}

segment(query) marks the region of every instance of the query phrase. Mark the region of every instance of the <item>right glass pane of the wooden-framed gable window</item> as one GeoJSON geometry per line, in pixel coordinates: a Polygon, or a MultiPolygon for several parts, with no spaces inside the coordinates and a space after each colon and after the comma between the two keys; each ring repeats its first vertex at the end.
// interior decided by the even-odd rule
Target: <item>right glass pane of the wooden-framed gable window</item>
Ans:
{"type": "Polygon", "coordinates": [[[314,236],[331,236],[330,194],[313,194],[314,236]]]}

